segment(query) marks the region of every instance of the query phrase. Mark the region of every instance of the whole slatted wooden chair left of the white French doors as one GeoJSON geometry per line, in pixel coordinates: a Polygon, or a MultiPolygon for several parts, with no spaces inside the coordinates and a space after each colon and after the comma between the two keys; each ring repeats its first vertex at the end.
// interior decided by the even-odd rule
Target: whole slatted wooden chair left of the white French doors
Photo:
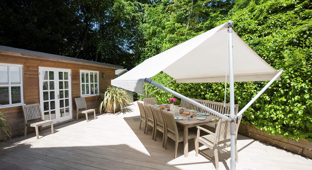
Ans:
{"type": "Polygon", "coordinates": [[[34,127],[36,130],[37,139],[39,139],[38,127],[40,127],[40,132],[42,132],[42,125],[51,124],[51,133],[54,134],[53,121],[43,120],[40,104],[30,104],[22,106],[24,118],[25,118],[25,130],[24,136],[27,136],[27,127],[34,127]],[[36,120],[35,120],[36,119],[36,120]],[[39,120],[38,120],[39,119],[39,120]],[[29,120],[34,120],[29,122],[29,120]]]}

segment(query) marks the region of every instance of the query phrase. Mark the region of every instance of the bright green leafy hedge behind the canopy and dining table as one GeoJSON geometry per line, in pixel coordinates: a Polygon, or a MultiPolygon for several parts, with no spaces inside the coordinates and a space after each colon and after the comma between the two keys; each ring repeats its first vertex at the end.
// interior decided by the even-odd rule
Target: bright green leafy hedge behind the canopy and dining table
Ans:
{"type": "MultiPolygon", "coordinates": [[[[236,1],[227,18],[234,21],[233,29],[272,67],[285,70],[281,80],[275,81],[244,113],[243,124],[285,138],[312,140],[311,3],[236,1]]],[[[165,73],[152,78],[160,84],[171,79],[165,73]]],[[[235,102],[242,108],[266,83],[235,83],[235,102]]],[[[167,87],[187,97],[223,102],[224,83],[170,83],[167,87]]],[[[155,89],[148,86],[149,93],[155,89]]],[[[157,97],[159,103],[167,103],[173,96],[159,90],[152,97],[157,97]]]]}

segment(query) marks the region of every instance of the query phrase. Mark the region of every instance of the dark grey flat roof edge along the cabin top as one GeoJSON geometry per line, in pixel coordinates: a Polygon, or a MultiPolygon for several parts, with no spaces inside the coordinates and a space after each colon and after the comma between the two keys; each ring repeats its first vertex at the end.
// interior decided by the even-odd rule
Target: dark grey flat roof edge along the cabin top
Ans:
{"type": "Polygon", "coordinates": [[[18,48],[13,48],[13,47],[7,47],[7,46],[2,46],[2,45],[0,45],[0,50],[16,52],[16,53],[23,53],[23,54],[29,54],[29,55],[38,55],[38,56],[44,56],[44,57],[51,57],[51,58],[56,58],[56,59],[66,59],[66,60],[71,60],[71,61],[76,61],[76,62],[83,62],[83,63],[89,63],[89,64],[98,64],[98,65],[102,65],[102,66],[114,67],[116,69],[123,69],[124,68],[124,66],[119,66],[119,65],[114,65],[114,64],[107,64],[107,63],[101,63],[101,62],[96,62],[96,61],[89,61],[89,60],[85,60],[85,59],[76,59],[76,58],[66,57],[66,56],[62,56],[62,55],[48,54],[48,53],[42,53],[42,52],[37,52],[37,51],[31,51],[31,50],[24,50],[24,49],[18,49],[18,48]]]}

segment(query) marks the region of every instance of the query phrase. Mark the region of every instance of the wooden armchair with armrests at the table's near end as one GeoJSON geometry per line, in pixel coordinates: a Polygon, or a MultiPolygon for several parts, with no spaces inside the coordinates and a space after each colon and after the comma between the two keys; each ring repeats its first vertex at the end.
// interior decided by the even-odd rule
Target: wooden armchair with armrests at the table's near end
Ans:
{"type": "MultiPolygon", "coordinates": [[[[238,153],[237,153],[237,131],[238,126],[241,122],[241,117],[238,118],[237,124],[235,124],[235,161],[238,161],[238,153]]],[[[197,126],[197,137],[195,142],[195,154],[198,156],[198,147],[199,143],[204,144],[207,148],[212,149],[214,152],[215,162],[216,162],[216,170],[219,169],[219,158],[218,158],[218,150],[227,148],[231,146],[231,133],[230,133],[230,121],[225,119],[219,119],[217,122],[216,132],[213,133],[205,128],[197,126]],[[200,131],[203,130],[209,135],[200,136],[200,131]]]]}

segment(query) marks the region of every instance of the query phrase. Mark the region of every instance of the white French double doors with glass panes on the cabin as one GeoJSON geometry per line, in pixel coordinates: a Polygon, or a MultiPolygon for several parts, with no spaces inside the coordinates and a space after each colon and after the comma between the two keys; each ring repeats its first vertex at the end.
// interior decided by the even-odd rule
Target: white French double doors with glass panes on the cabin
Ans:
{"type": "Polygon", "coordinates": [[[39,87],[44,120],[72,119],[70,69],[39,67],[39,87]]]}

